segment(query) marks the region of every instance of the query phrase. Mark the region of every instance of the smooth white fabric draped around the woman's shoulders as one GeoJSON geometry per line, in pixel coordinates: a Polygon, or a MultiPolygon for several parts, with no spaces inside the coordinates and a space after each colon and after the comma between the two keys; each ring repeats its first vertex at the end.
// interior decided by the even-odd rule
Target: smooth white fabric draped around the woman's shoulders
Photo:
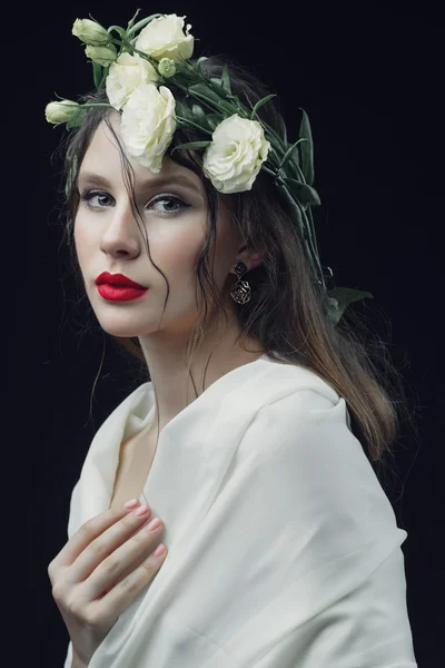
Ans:
{"type": "MultiPolygon", "coordinates": [[[[154,407],[145,383],[98,430],[69,538],[109,507],[154,407]]],[[[349,425],[328,383],[266,355],[167,424],[144,492],[169,553],[89,667],[415,668],[407,532],[349,425]]]]}

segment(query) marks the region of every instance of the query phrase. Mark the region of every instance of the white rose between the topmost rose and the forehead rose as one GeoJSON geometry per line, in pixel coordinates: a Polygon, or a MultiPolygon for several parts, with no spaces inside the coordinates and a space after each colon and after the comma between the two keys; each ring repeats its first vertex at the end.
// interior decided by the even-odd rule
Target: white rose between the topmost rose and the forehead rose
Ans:
{"type": "Polygon", "coordinates": [[[121,109],[134,90],[141,84],[155,84],[159,75],[154,66],[138,53],[121,53],[110,65],[106,80],[107,96],[111,107],[121,109]]]}

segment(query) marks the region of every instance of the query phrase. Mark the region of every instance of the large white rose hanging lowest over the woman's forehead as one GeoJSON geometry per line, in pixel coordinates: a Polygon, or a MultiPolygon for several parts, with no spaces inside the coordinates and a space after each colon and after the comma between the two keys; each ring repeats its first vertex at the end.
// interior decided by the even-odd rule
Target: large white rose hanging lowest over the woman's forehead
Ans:
{"type": "Polygon", "coordinates": [[[175,105],[169,88],[142,84],[122,109],[120,130],[128,154],[156,174],[176,130],[175,105]]]}

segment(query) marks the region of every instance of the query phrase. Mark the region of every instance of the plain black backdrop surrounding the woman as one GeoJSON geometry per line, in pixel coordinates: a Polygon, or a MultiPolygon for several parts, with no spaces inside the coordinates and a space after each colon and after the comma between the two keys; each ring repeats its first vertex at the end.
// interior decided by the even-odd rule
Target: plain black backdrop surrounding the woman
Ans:
{"type": "MultiPolygon", "coordinates": [[[[186,14],[200,40],[195,55],[227,52],[254,66],[278,92],[290,138],[298,107],[309,115],[322,263],[333,267],[338,285],[373,293],[367,317],[389,337],[418,411],[419,434],[406,430],[388,495],[408,532],[403,551],[416,658],[422,668],[436,668],[444,622],[444,21],[438,3],[308,4],[165,2],[142,6],[141,16],[186,14]]],[[[33,642],[21,651],[48,668],[63,665],[68,633],[47,567],[68,539],[70,495],[90,441],[137,383],[100,328],[87,331],[75,310],[57,217],[60,165],[51,164],[62,128],[53,129],[43,112],[55,94],[76,99],[92,87],[91,66],[71,35],[75,19],[91,13],[105,26],[126,26],[136,9],[127,2],[39,6],[21,24],[26,49],[14,51],[16,95],[24,102],[26,92],[27,106],[20,105],[20,126],[17,107],[8,107],[11,131],[22,128],[23,141],[18,151],[7,132],[18,170],[6,197],[12,193],[10,216],[19,230],[8,256],[22,247],[24,229],[27,272],[18,317],[8,320],[18,323],[17,331],[8,327],[9,364],[19,393],[13,451],[29,474],[22,495],[32,500],[24,552],[27,598],[32,592],[36,606],[33,642]]],[[[17,490],[12,474],[7,482],[17,490]]]]}

